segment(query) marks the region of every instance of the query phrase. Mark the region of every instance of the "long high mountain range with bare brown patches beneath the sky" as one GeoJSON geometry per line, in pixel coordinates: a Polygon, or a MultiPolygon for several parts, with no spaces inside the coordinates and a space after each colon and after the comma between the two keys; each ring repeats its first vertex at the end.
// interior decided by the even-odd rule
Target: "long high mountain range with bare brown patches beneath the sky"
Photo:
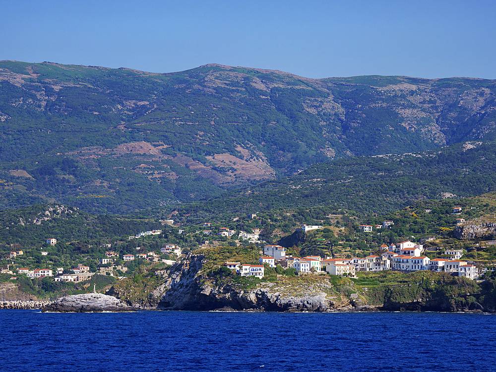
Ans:
{"type": "Polygon", "coordinates": [[[0,62],[0,207],[124,213],[351,156],[495,139],[496,81],[0,62]]]}

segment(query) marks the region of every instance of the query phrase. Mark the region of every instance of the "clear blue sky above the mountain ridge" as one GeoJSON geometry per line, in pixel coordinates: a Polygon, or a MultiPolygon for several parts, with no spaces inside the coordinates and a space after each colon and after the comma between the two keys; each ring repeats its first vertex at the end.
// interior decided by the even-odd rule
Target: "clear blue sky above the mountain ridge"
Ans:
{"type": "Polygon", "coordinates": [[[496,79],[495,0],[13,0],[0,60],[496,79]]]}

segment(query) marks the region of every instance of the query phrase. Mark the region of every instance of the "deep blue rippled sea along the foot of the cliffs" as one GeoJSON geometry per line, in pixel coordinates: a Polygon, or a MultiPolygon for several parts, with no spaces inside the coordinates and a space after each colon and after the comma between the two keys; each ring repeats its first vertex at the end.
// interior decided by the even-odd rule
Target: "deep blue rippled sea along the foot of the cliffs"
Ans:
{"type": "Polygon", "coordinates": [[[0,371],[496,371],[496,315],[0,310],[0,371]]]}

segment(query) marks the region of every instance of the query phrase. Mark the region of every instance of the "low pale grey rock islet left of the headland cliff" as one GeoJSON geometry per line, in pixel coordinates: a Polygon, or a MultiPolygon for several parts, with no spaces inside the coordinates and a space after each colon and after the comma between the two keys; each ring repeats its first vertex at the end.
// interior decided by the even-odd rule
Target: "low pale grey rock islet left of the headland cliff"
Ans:
{"type": "Polygon", "coordinates": [[[135,311],[121,300],[101,293],[66,296],[43,308],[43,312],[135,311]]]}

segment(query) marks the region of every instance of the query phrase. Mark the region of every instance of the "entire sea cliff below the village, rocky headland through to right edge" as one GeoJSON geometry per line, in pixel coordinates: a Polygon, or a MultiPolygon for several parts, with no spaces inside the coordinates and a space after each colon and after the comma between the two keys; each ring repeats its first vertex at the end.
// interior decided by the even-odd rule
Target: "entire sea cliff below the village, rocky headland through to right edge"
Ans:
{"type": "Polygon", "coordinates": [[[366,282],[374,282],[367,288],[359,284],[361,279],[354,283],[328,275],[278,276],[270,282],[206,275],[206,262],[204,255],[190,254],[166,270],[148,274],[149,281],[126,278],[108,294],[138,309],[201,311],[494,312],[496,303],[494,289],[488,292],[475,281],[447,273],[384,271],[367,276],[366,282]]]}

